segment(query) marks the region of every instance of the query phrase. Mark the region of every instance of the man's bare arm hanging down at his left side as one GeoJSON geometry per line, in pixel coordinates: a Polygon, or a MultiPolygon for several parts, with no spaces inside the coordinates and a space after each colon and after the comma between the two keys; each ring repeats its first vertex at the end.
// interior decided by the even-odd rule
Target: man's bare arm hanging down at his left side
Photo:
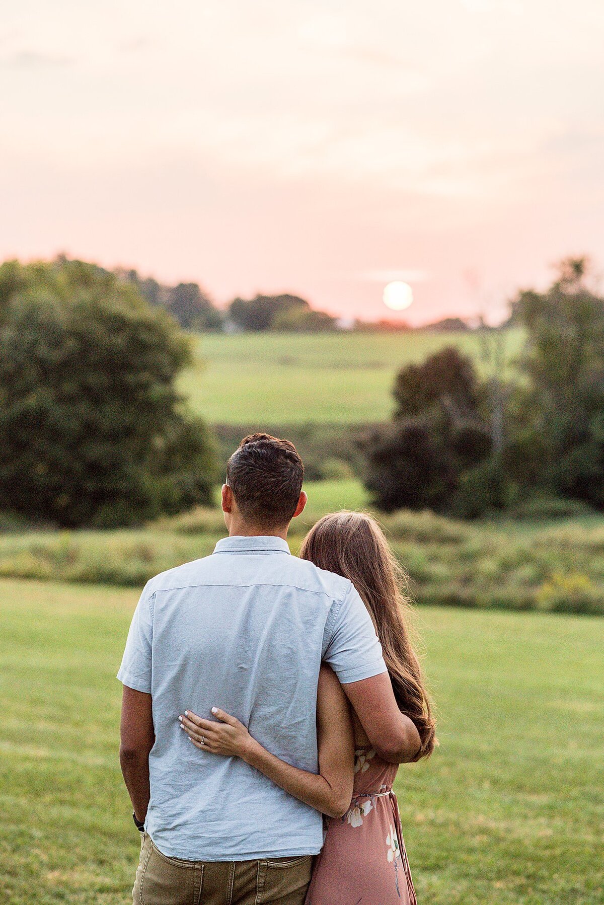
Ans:
{"type": "Polygon", "coordinates": [[[149,751],[154,742],[151,695],[124,685],[121,698],[120,767],[134,813],[141,823],[145,820],[149,807],[149,751]]]}

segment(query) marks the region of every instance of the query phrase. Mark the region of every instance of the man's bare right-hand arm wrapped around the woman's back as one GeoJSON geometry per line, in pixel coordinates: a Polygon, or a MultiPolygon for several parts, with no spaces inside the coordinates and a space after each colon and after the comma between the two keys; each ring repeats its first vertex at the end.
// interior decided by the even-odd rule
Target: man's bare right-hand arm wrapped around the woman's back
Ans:
{"type": "Polygon", "coordinates": [[[379,757],[391,764],[415,759],[421,739],[413,721],[398,710],[388,672],[347,682],[342,688],[379,757]]]}

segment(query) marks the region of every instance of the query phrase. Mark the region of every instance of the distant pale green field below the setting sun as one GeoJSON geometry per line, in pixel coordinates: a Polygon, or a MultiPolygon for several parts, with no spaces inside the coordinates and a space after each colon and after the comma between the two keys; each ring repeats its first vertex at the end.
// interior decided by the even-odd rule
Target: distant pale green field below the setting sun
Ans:
{"type": "MultiPolygon", "coordinates": [[[[398,368],[446,345],[476,358],[477,333],[244,333],[195,338],[180,390],[210,424],[362,424],[387,419],[398,368]]],[[[507,334],[513,358],[521,334],[507,334]]]]}

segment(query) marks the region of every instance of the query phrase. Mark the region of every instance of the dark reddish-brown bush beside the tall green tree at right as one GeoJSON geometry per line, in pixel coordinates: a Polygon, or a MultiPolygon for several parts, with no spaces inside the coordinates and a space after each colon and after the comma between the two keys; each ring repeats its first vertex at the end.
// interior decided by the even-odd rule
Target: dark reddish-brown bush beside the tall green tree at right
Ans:
{"type": "Polygon", "coordinates": [[[365,483],[380,510],[476,518],[501,505],[503,481],[488,464],[493,440],[482,411],[485,393],[474,362],[455,348],[402,368],[393,422],[363,444],[365,483]]]}

